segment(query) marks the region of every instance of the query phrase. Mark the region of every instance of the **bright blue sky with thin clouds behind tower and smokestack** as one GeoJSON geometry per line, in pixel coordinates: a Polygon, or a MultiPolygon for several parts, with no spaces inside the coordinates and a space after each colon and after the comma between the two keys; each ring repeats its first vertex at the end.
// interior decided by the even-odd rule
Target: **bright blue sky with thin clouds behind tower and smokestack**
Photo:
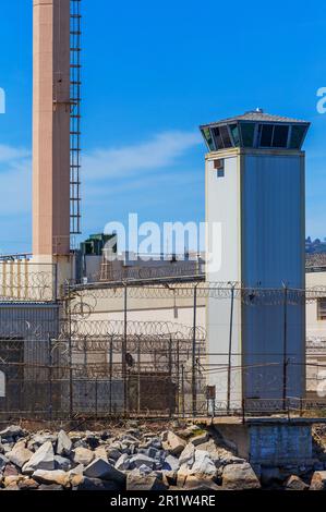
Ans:
{"type": "MultiPolygon", "coordinates": [[[[31,249],[32,0],[2,2],[0,252],[31,249]]],[[[83,232],[204,220],[197,126],[256,107],[313,123],[307,234],[326,236],[326,4],[83,0],[83,232]]]]}

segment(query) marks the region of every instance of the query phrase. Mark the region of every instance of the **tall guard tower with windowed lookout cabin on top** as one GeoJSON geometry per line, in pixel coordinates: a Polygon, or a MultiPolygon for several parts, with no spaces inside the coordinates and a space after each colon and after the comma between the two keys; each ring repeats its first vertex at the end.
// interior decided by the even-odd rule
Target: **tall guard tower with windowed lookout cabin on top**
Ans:
{"type": "Polygon", "coordinates": [[[227,407],[305,393],[305,305],[293,290],[304,289],[309,126],[261,109],[201,126],[207,280],[225,288],[207,304],[209,383],[227,407]]]}

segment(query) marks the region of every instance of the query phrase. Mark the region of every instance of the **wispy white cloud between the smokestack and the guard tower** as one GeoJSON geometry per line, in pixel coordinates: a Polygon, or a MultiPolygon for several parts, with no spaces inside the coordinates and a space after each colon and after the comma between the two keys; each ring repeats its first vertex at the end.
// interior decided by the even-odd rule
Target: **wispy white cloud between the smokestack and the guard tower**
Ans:
{"type": "Polygon", "coordinates": [[[192,147],[201,144],[195,132],[164,132],[153,139],[121,148],[96,149],[83,158],[87,180],[130,176],[169,167],[192,147]]]}

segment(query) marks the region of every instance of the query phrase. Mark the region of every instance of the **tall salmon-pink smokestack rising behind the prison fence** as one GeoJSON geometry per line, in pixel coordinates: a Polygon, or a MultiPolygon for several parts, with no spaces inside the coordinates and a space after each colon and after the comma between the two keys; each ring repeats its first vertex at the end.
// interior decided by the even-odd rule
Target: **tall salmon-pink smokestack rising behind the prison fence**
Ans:
{"type": "Polygon", "coordinates": [[[70,254],[70,0],[34,0],[33,254],[70,254]]]}

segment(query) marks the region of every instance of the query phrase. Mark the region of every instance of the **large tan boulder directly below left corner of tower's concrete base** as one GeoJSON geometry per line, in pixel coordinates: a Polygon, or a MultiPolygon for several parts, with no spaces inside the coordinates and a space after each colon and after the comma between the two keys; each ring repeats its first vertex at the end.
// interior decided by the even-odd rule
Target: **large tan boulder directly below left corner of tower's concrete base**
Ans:
{"type": "Polygon", "coordinates": [[[225,490],[259,489],[261,484],[249,463],[228,464],[222,472],[222,488],[225,490]]]}

